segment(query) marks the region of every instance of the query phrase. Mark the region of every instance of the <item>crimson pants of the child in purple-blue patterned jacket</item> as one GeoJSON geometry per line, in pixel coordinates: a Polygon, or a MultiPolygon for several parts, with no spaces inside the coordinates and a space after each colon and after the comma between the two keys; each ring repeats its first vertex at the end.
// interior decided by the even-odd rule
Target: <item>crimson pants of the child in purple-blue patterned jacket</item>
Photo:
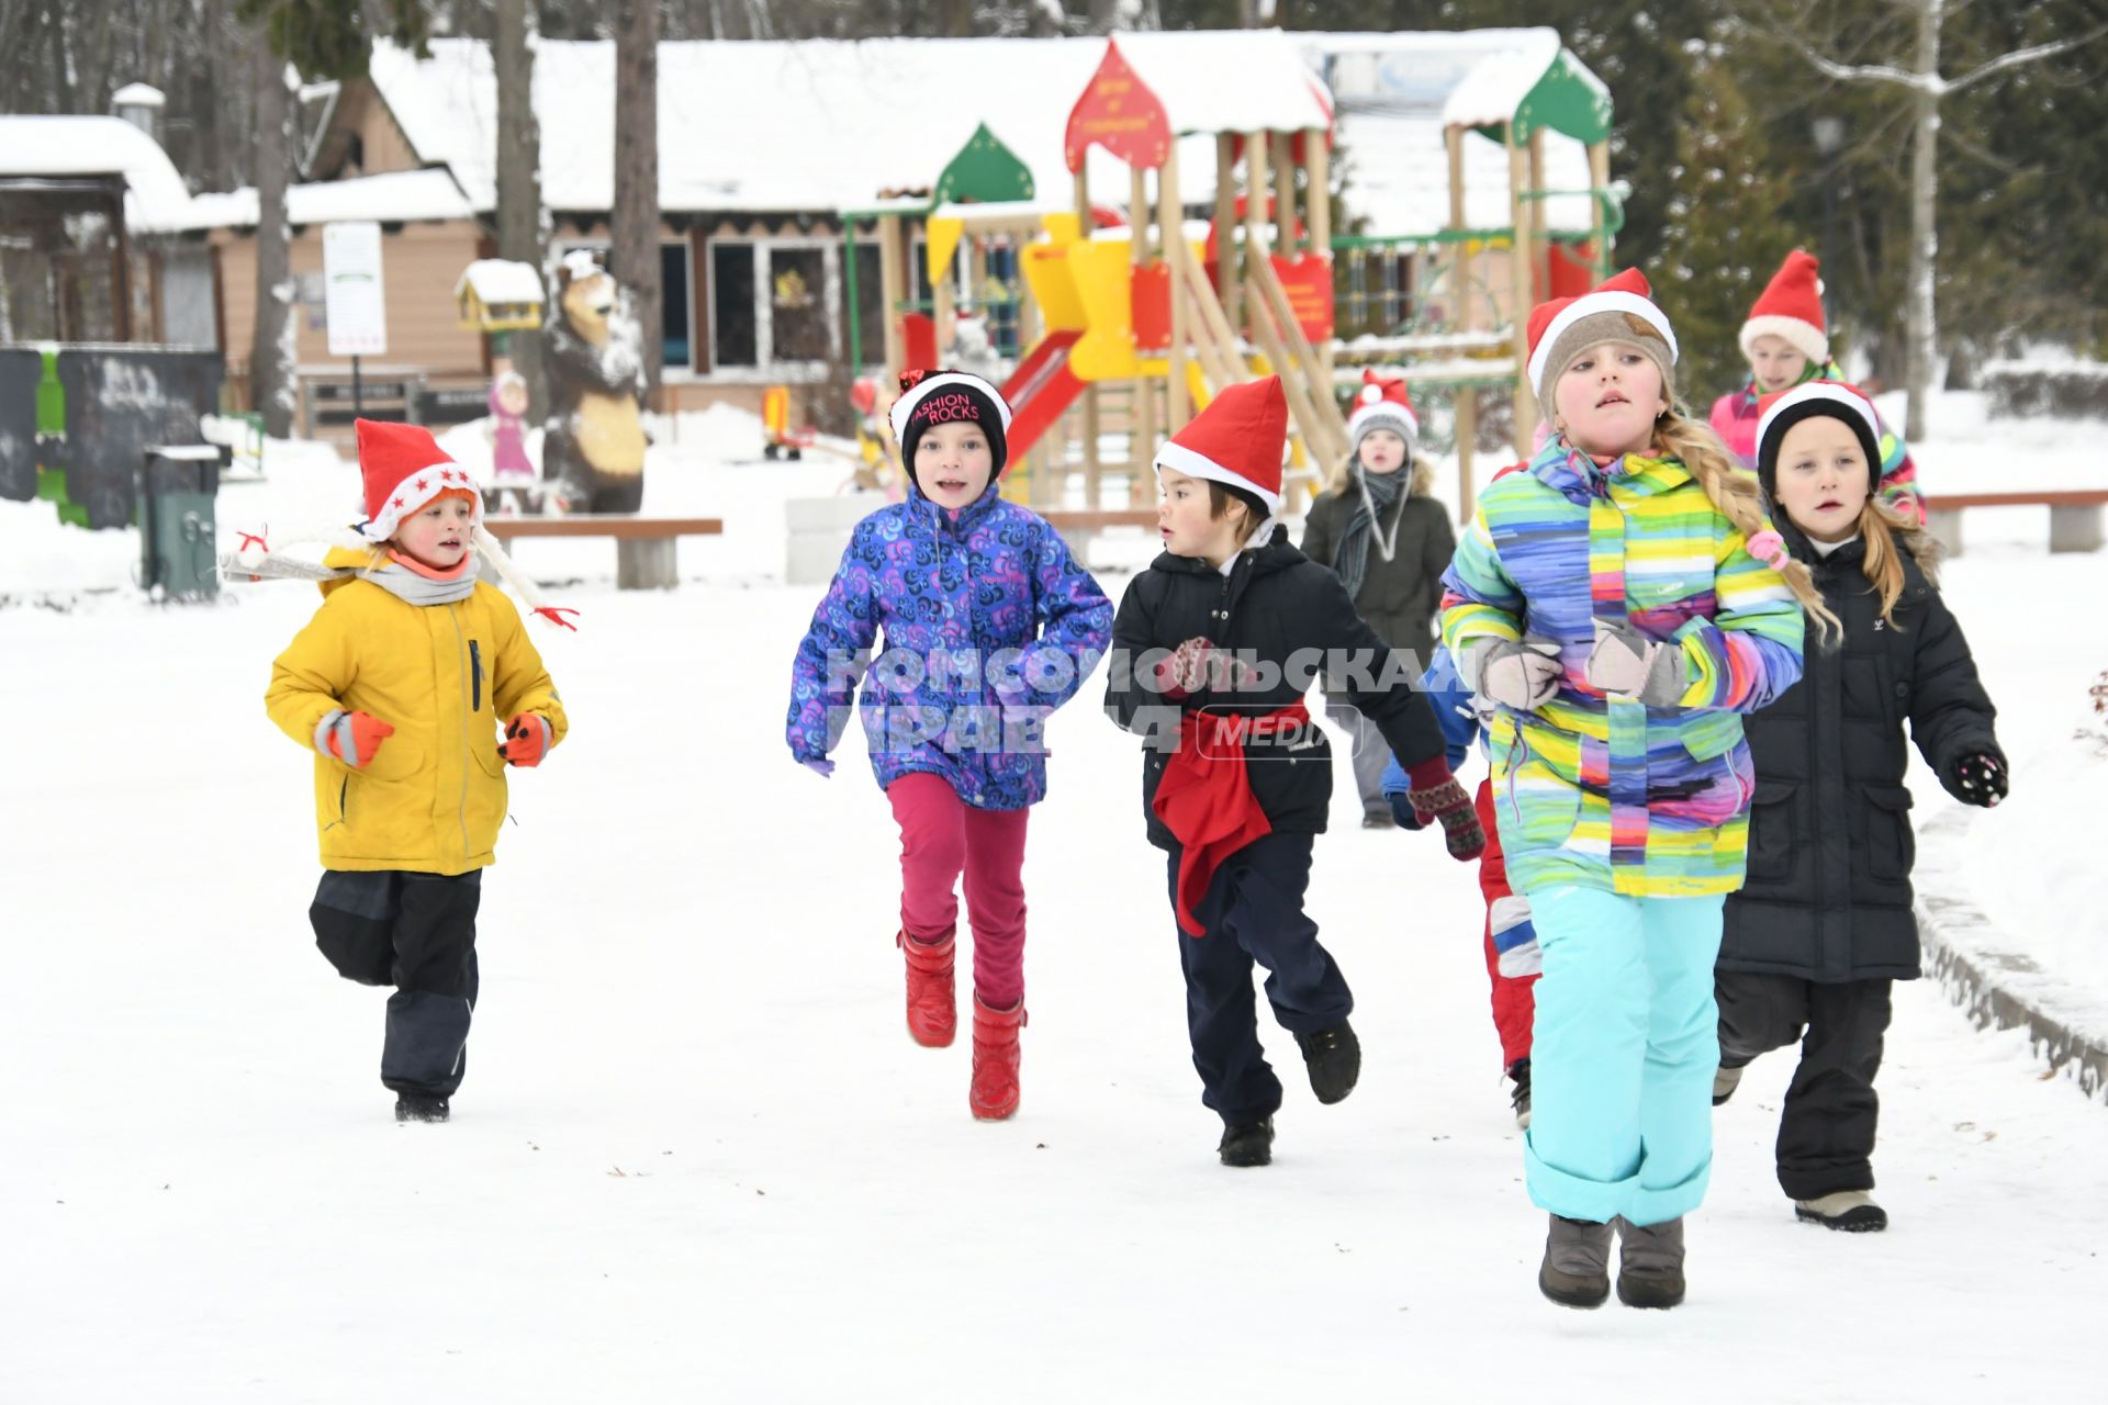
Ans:
{"type": "Polygon", "coordinates": [[[1024,998],[1024,809],[974,809],[940,777],[911,771],[885,788],[900,824],[900,925],[938,939],[959,923],[959,874],[974,925],[974,994],[1024,998]]]}

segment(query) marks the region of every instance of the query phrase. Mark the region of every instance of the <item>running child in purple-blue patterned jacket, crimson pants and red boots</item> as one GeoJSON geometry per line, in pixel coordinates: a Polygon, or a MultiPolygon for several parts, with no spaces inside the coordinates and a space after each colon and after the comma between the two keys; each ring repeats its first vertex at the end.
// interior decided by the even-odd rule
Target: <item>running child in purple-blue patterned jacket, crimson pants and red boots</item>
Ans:
{"type": "Polygon", "coordinates": [[[1010,404],[978,375],[909,371],[892,407],[906,501],[850,537],[790,666],[790,756],[822,777],[862,680],[871,771],[900,826],[909,1036],[951,1045],[959,876],[974,927],[980,1121],[1018,1110],[1024,822],[1046,798],[1048,714],[1098,666],[1113,605],[1060,535],[997,493],[1010,404]],[[883,657],[864,672],[873,642],[883,657]]]}

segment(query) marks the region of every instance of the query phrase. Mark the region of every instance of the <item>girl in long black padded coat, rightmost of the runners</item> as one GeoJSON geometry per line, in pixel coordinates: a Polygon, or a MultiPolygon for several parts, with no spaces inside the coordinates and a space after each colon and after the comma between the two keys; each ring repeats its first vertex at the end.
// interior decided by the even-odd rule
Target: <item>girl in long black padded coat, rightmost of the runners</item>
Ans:
{"type": "Polygon", "coordinates": [[[1844,632],[1809,640],[1800,682],[1745,723],[1750,878],[1729,897],[1714,967],[1714,1104],[1758,1053],[1800,1043],[1779,1186],[1798,1218],[1834,1230],[1889,1222],[1868,1194],[1874,1074],[1889,986],[1918,975],[1904,725],[1954,798],[1992,807],[2007,792],[1992,704],[1927,541],[1872,497],[1878,447],[1874,407],[1832,381],[1775,396],[1758,430],[1775,550],[1811,567],[1844,632]]]}

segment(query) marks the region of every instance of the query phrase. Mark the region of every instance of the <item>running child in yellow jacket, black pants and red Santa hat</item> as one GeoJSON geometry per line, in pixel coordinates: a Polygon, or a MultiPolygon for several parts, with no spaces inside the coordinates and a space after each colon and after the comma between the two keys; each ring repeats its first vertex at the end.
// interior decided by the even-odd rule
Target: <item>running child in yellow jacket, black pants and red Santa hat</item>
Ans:
{"type": "Polygon", "coordinates": [[[445,1123],[468,1068],[506,767],[542,765],[569,720],[512,600],[476,579],[479,550],[510,571],[474,478],[417,426],[356,432],[363,546],[323,558],[344,575],[320,581],[264,706],[314,752],[316,946],[346,979],[394,986],[382,1085],[398,1123],[445,1123]]]}

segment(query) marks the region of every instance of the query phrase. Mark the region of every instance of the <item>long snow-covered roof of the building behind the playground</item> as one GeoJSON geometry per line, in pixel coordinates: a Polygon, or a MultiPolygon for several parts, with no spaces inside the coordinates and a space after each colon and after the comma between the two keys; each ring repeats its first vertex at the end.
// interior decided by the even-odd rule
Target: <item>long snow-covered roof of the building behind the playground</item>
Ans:
{"type": "MultiPolygon", "coordinates": [[[[1339,99],[1336,135],[1349,154],[1347,209],[1372,230],[1412,234],[1448,219],[1448,169],[1440,131],[1442,99],[1488,55],[1518,48],[1558,53],[1549,29],[1461,34],[1124,34],[1121,53],[1157,91],[1180,131],[1214,124],[1282,131],[1324,122],[1328,67],[1349,61],[1368,76],[1442,72],[1440,93],[1414,114],[1395,103],[1339,99]],[[1524,36],[1524,38],[1518,38],[1524,36]],[[1545,36],[1545,38],[1539,38],[1545,36]],[[1360,55],[1360,59],[1355,59],[1360,55]],[[1284,63],[1305,74],[1284,84],[1284,63]],[[1244,82],[1269,99],[1244,101],[1244,82]]],[[[453,171],[474,211],[497,204],[497,78],[489,46],[432,40],[417,59],[392,44],[373,48],[373,84],[417,158],[453,171]]],[[[1107,40],[805,40],[668,42],[660,46],[660,209],[670,213],[868,211],[881,190],[932,185],[982,120],[1016,152],[1041,192],[1067,192],[1062,158],[1069,110],[1105,57],[1107,40]],[[980,103],[961,101],[989,93],[980,103]]],[[[1372,78],[1368,80],[1372,82],[1372,78]]],[[[1368,82],[1362,82],[1368,88],[1368,82]]],[[[1336,86],[1336,84],[1334,84],[1336,86]]],[[[1393,84],[1395,86],[1395,84],[1393,84]]],[[[542,120],[542,196],[554,211],[607,211],[613,204],[616,51],[611,42],[535,46],[535,112],[542,120]]],[[[1558,187],[1587,185],[1587,164],[1573,164],[1560,137],[1547,143],[1558,187]]],[[[1505,225],[1505,164],[1471,156],[1471,223],[1505,225]],[[1484,192],[1484,194],[1482,194],[1484,192]],[[1499,202],[1492,211],[1490,200],[1499,202]]],[[[1094,198],[1126,200],[1128,171],[1105,152],[1090,154],[1094,198]]],[[[1214,141],[1178,143],[1180,198],[1214,202],[1214,141]]],[[[377,177],[367,177],[377,179],[377,177]]],[[[1554,227],[1587,227],[1554,202],[1554,227]]],[[[382,217],[388,215],[367,215],[382,217]]]]}

